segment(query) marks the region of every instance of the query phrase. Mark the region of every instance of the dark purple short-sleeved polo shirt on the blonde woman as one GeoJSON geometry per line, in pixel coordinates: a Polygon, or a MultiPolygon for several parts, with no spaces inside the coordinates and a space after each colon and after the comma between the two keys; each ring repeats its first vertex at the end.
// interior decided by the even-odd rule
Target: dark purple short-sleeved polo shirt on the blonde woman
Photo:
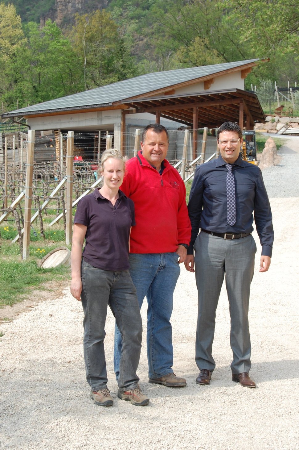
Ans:
{"type": "Polygon", "coordinates": [[[82,253],[91,266],[103,270],[129,269],[129,234],[135,225],[134,202],[120,190],[113,206],[95,189],[81,198],[74,224],[87,226],[82,253]]]}

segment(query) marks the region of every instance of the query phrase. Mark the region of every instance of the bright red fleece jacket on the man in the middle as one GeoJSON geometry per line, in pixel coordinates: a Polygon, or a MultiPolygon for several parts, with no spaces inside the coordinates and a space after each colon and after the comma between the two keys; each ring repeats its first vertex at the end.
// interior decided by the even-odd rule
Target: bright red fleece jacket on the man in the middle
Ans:
{"type": "Polygon", "coordinates": [[[179,172],[165,159],[162,175],[139,151],[129,159],[120,189],[135,204],[130,253],[175,252],[189,244],[191,225],[186,188],[179,172]]]}

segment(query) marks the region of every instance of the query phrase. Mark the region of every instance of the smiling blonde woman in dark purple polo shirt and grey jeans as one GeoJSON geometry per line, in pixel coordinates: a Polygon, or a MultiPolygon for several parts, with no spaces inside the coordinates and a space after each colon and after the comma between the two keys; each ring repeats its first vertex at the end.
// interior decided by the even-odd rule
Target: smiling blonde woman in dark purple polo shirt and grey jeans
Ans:
{"type": "Polygon", "coordinates": [[[78,203],[71,248],[71,294],[82,302],[84,311],[86,379],[94,403],[112,406],[104,353],[109,305],[122,337],[117,395],[133,405],[143,406],[148,405],[149,399],[140,391],[136,374],[142,322],[136,289],[129,275],[134,203],[119,189],[125,175],[125,159],[116,149],[105,150],[100,171],[103,187],[78,203]]]}

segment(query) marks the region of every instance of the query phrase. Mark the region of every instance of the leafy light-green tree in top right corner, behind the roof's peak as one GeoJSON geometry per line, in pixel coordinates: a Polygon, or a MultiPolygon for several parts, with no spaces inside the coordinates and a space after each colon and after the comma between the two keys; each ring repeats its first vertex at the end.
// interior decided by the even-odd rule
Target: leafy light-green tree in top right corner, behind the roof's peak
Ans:
{"type": "Polygon", "coordinates": [[[299,3],[295,0],[226,0],[227,16],[253,58],[270,58],[260,64],[254,79],[271,79],[286,85],[299,76],[299,3]]]}

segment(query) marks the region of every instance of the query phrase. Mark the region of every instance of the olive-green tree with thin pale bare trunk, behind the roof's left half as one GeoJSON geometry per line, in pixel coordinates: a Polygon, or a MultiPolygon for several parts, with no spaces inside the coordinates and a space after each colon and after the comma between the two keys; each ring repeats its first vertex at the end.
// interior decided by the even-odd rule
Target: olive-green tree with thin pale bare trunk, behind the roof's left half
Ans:
{"type": "Polygon", "coordinates": [[[134,59],[107,11],[76,14],[76,24],[71,29],[70,38],[84,72],[85,89],[114,83],[136,74],[134,59]]]}

